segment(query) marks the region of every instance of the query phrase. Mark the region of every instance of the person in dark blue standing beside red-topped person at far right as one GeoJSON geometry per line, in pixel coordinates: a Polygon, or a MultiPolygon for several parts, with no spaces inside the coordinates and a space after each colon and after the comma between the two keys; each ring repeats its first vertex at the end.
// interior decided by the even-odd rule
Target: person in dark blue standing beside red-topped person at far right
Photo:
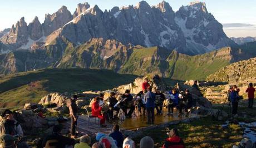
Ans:
{"type": "Polygon", "coordinates": [[[237,115],[237,110],[238,110],[238,92],[237,91],[237,86],[233,86],[232,90],[229,92],[229,100],[232,103],[232,115],[237,115]]]}

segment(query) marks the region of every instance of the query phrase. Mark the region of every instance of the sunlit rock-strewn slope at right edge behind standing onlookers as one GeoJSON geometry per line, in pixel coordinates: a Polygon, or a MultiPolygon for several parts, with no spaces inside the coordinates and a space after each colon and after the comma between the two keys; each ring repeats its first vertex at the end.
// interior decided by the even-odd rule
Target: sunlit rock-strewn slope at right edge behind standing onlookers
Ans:
{"type": "Polygon", "coordinates": [[[239,82],[256,80],[256,58],[232,63],[207,77],[209,81],[239,82]]]}

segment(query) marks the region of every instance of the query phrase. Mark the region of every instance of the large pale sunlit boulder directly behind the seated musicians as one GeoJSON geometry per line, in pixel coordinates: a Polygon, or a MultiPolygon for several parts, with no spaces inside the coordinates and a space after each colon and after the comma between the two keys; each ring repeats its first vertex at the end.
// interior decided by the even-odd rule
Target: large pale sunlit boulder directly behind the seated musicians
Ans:
{"type": "Polygon", "coordinates": [[[139,93],[142,91],[142,83],[144,82],[144,79],[148,78],[150,86],[152,86],[153,91],[155,91],[156,88],[159,88],[161,91],[166,90],[165,82],[159,77],[159,75],[150,75],[145,77],[138,77],[134,80],[133,83],[122,85],[117,88],[114,88],[113,91],[125,93],[125,90],[130,90],[131,93],[139,93]]]}

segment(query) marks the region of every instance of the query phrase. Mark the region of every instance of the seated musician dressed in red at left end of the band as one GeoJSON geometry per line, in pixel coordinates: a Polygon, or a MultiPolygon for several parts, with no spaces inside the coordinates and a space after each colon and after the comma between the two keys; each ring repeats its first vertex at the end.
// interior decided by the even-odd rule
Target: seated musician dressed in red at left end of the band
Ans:
{"type": "Polygon", "coordinates": [[[92,116],[98,117],[100,119],[100,124],[102,127],[106,127],[105,125],[105,116],[101,114],[102,107],[99,105],[101,98],[96,97],[95,102],[92,103],[92,116]]]}

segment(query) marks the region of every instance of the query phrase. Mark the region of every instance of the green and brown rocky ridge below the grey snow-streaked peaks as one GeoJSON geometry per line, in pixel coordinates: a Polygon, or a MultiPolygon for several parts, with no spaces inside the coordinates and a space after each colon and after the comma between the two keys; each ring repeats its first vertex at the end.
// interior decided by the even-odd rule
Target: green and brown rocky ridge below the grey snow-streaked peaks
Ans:
{"type": "Polygon", "coordinates": [[[204,80],[234,61],[233,55],[244,57],[244,53],[230,47],[203,55],[189,56],[169,51],[163,47],[145,48],[123,44],[116,40],[92,38],[75,46],[66,38],[58,39],[54,45],[41,50],[14,51],[1,55],[1,73],[31,71],[38,68],[91,68],[108,69],[135,75],[158,74],[178,80],[204,80]],[[14,62],[10,65],[8,60],[14,62]]]}

